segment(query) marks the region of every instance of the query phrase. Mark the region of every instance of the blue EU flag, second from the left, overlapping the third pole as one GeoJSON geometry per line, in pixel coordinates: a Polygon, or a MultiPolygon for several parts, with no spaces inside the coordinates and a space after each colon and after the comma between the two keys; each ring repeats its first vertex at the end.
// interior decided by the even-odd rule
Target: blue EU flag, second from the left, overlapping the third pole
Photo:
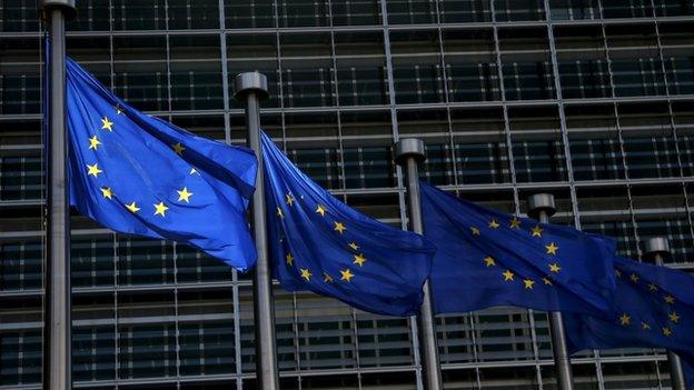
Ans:
{"type": "Polygon", "coordinates": [[[272,270],[282,287],[375,313],[418,312],[434,247],[337,200],[266,134],[262,150],[272,270]]]}

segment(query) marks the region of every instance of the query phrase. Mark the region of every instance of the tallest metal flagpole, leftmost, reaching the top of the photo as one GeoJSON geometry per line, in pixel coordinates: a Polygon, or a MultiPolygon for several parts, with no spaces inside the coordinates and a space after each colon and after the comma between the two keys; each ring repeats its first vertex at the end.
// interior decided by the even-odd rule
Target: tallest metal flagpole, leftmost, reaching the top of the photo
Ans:
{"type": "Polygon", "coordinates": [[[43,313],[43,389],[69,390],[71,378],[70,204],[66,142],[66,19],[75,17],[75,0],[42,0],[39,11],[50,23],[49,159],[46,293],[43,313]]]}

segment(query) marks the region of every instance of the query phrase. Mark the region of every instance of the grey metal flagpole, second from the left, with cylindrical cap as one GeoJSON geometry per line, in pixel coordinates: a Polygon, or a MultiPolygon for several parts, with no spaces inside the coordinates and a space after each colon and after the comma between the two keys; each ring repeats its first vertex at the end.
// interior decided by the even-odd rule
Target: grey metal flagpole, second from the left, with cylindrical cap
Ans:
{"type": "Polygon", "coordinates": [[[235,98],[246,106],[248,146],[258,157],[256,191],[251,202],[252,228],[258,250],[258,262],[254,272],[254,320],[256,324],[256,388],[279,389],[277,374],[277,342],[275,339],[275,308],[272,284],[268,261],[266,229],[265,179],[262,171],[262,148],[260,146],[260,100],[269,97],[267,78],[262,73],[240,73],[234,80],[235,98]]]}

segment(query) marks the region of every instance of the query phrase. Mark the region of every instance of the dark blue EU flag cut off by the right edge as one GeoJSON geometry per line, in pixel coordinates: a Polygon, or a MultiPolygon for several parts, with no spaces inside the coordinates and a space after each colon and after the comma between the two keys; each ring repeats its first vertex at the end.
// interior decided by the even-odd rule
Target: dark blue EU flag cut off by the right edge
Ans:
{"type": "Polygon", "coordinates": [[[565,316],[569,351],[665,348],[694,363],[694,277],[622,258],[613,273],[617,312],[609,319],[565,316]]]}

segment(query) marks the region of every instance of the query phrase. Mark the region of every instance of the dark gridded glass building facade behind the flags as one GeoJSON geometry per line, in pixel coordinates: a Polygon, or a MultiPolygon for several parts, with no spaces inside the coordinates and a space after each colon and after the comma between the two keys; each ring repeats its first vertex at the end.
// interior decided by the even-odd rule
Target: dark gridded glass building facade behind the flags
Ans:
{"type": "MultiPolygon", "coordinates": [[[[553,221],[666,236],[694,267],[691,0],[78,0],[68,52],[136,108],[244,143],[231,80],[270,81],[261,121],[340,199],[397,227],[391,146],[423,177],[506,212],[552,192],[553,221]]],[[[0,2],[0,389],[39,389],[41,26],[0,2]]],[[[172,242],[72,218],[73,377],[83,389],[254,389],[250,277],[172,242]]],[[[286,389],[422,389],[415,321],[275,289],[286,389]]],[[[547,314],[439,316],[447,389],[555,389],[547,314]]],[[[574,357],[576,389],[670,387],[664,351],[574,357]]]]}

